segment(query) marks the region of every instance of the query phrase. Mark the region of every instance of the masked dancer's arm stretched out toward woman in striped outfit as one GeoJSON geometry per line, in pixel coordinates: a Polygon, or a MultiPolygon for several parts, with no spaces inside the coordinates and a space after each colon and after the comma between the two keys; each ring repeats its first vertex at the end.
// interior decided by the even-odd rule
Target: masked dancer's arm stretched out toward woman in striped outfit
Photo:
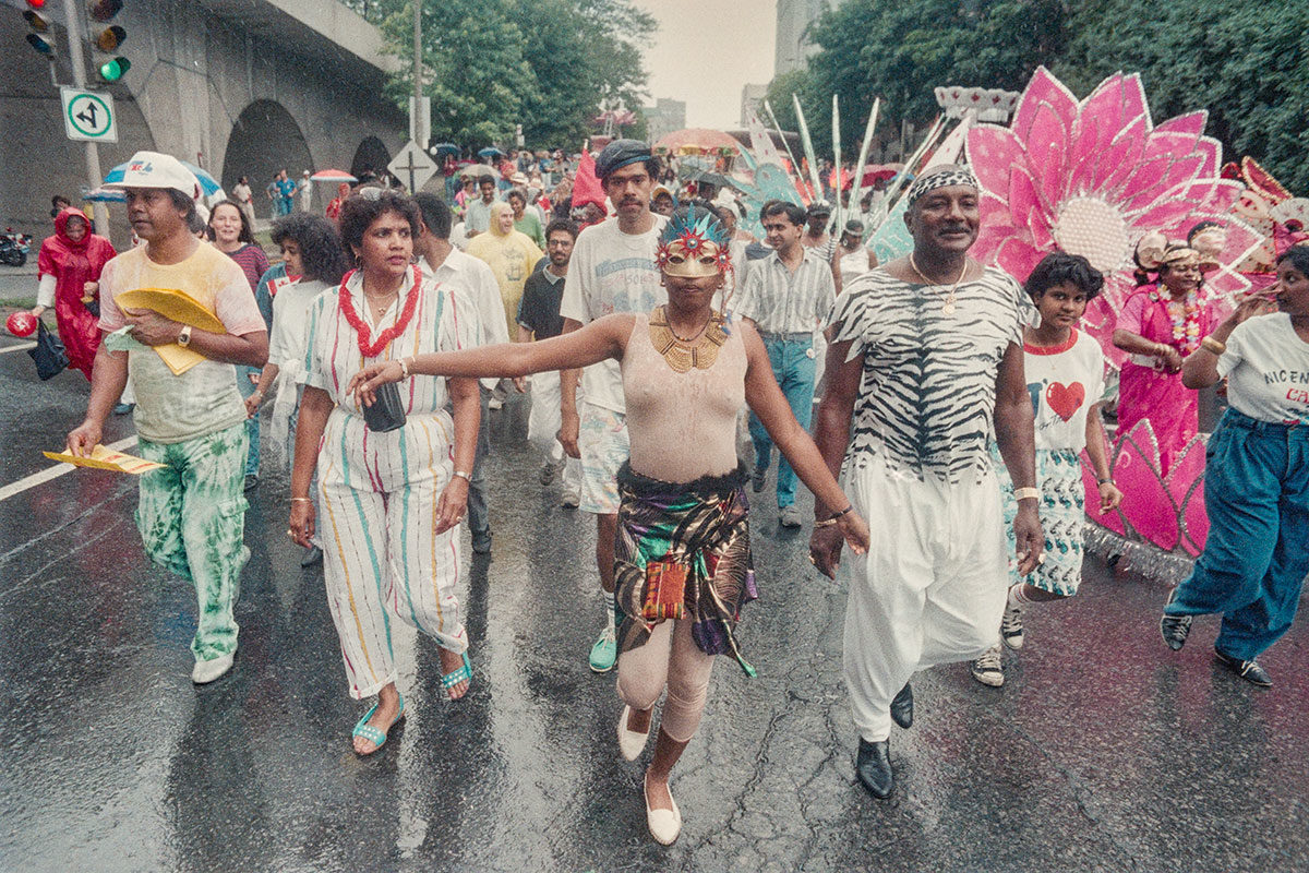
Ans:
{"type": "MultiPolygon", "coordinates": [[[[581,330],[539,343],[500,343],[458,352],[428,352],[404,359],[404,363],[410,376],[473,378],[514,378],[542,370],[589,366],[623,356],[634,321],[634,315],[606,315],[581,330]]],[[[402,361],[369,364],[355,374],[346,390],[356,391],[364,406],[372,406],[373,391],[378,386],[403,377],[402,361]]]]}

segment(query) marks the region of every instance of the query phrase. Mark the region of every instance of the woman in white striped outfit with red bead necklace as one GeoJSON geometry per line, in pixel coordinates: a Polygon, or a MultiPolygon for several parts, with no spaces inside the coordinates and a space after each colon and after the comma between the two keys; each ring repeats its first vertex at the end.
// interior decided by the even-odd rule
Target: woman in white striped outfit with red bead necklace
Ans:
{"type": "Polygon", "coordinates": [[[319,294],[309,308],[291,476],[287,533],[308,548],[321,529],[327,603],[350,694],[356,700],[377,695],[352,732],[361,755],[377,751],[404,716],[395,687],[393,622],[437,641],[441,687],[452,700],[463,696],[473,679],[454,582],[457,527],[478,431],[476,382],[406,378],[398,399],[403,425],[387,431],[369,429],[363,408],[346,391],[355,373],[373,361],[466,348],[476,338],[471,302],[410,263],[418,230],[418,207],[393,191],[367,188],[342,207],[342,240],[359,268],[335,294],[319,294]],[[309,487],[315,472],[314,499],[309,487]]]}

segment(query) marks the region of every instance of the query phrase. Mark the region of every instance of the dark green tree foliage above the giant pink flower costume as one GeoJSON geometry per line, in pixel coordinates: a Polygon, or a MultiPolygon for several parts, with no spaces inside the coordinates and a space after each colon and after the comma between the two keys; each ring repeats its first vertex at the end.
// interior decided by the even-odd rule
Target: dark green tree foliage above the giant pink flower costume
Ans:
{"type": "Polygon", "coordinates": [[[812,31],[818,52],[779,76],[770,101],[795,130],[800,96],[819,153],[830,153],[840,96],[853,157],[873,98],[880,130],[924,124],[937,85],[1022,90],[1039,64],[1079,96],[1117,72],[1140,72],[1156,120],[1207,109],[1208,134],[1309,192],[1309,3],[1242,0],[846,0],[812,31]]]}

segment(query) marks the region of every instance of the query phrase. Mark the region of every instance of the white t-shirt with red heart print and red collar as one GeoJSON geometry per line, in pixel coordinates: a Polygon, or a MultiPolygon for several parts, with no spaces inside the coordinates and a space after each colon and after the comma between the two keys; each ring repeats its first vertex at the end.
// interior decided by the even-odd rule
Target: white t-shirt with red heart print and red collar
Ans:
{"type": "Polygon", "coordinates": [[[1022,368],[1037,420],[1038,449],[1086,446],[1086,415],[1105,394],[1105,353],[1073,330],[1059,347],[1022,346],[1022,368]]]}

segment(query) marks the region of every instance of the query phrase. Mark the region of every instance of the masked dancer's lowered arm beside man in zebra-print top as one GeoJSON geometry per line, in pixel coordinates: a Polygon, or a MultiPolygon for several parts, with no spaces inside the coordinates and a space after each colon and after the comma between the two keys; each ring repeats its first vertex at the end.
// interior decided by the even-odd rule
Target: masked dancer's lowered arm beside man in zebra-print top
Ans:
{"type": "MultiPolygon", "coordinates": [[[[818,453],[808,431],[800,427],[785,395],[778,387],[778,380],[774,378],[768,363],[768,352],[763,348],[759,334],[751,325],[745,323],[738,325],[737,330],[741,331],[745,343],[745,399],[750,408],[759,416],[768,436],[778,444],[778,450],[791,462],[805,487],[814,492],[821,504],[834,507],[827,516],[846,509],[851,505],[850,500],[846,499],[823,455],[818,453]]],[[[853,510],[842,513],[835,526],[840,529],[856,554],[868,550],[868,525],[859,513],[853,510]]]]}

